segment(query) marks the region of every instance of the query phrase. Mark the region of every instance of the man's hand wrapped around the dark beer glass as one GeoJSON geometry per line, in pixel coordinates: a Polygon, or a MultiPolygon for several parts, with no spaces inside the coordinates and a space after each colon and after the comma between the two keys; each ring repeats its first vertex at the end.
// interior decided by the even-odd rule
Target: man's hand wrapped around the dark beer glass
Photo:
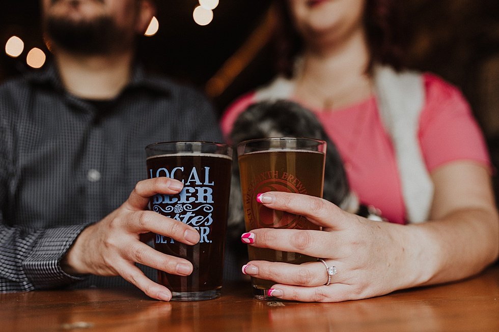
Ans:
{"type": "Polygon", "coordinates": [[[81,232],[62,262],[65,271],[70,274],[120,275],[148,296],[170,300],[170,290],[147,278],[135,263],[174,275],[191,274],[192,264],[188,260],[162,254],[140,240],[141,234],[153,232],[188,245],[199,242],[197,230],[146,210],[151,196],[178,194],[182,187],[181,182],[167,177],[138,182],[119,208],[81,232]]]}

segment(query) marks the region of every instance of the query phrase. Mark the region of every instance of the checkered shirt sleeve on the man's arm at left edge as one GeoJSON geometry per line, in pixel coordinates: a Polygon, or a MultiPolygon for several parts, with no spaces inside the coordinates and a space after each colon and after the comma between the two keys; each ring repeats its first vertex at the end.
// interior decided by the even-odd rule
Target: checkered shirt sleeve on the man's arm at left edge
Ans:
{"type": "Polygon", "coordinates": [[[13,204],[8,192],[13,190],[15,178],[11,131],[5,118],[0,118],[0,292],[57,287],[80,280],[64,273],[60,261],[85,225],[36,229],[11,226],[6,220],[7,206],[13,204]]]}

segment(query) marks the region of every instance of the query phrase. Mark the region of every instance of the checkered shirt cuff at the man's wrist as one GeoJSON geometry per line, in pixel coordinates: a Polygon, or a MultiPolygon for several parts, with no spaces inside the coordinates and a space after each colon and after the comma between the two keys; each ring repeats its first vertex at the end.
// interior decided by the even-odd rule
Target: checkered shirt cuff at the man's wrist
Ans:
{"type": "Polygon", "coordinates": [[[65,273],[61,260],[87,226],[89,225],[73,225],[45,230],[31,254],[22,263],[24,273],[35,289],[55,288],[85,280],[65,273]]]}

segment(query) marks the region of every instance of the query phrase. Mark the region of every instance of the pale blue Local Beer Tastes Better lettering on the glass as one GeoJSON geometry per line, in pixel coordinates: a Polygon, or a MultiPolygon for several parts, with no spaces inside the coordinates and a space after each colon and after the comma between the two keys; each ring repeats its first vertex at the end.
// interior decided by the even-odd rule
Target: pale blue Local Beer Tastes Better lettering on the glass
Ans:
{"type": "MultiPolygon", "coordinates": [[[[161,167],[149,169],[150,178],[166,176],[181,180],[184,188],[178,195],[155,195],[151,199],[153,211],[190,225],[200,233],[200,243],[211,243],[210,225],[213,223],[213,186],[210,167],[161,167]]],[[[156,243],[174,243],[174,239],[156,234],[156,243]]]]}

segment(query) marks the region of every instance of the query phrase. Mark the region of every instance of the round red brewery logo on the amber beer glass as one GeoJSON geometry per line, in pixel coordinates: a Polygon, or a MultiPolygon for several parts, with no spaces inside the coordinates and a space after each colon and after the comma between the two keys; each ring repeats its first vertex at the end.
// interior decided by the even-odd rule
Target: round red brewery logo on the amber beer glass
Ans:
{"type": "Polygon", "coordinates": [[[304,217],[274,210],[257,202],[256,196],[259,193],[268,191],[280,191],[287,193],[307,194],[307,189],[303,183],[291,173],[277,170],[267,171],[257,175],[248,188],[245,200],[248,206],[246,214],[248,222],[252,228],[273,227],[273,228],[297,228],[304,225],[304,217]],[[253,215],[257,212],[257,216],[253,215]]]}

